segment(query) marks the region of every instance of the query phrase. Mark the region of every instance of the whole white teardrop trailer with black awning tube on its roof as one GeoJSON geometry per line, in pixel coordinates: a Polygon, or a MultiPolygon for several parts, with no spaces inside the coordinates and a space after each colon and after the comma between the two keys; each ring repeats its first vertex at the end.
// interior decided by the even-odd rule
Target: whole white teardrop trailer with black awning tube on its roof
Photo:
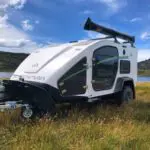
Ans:
{"type": "Polygon", "coordinates": [[[10,80],[2,82],[0,109],[21,107],[23,117],[30,118],[35,110],[51,112],[57,103],[93,102],[112,97],[121,104],[135,99],[135,38],[95,24],[90,18],[84,29],[107,37],[48,46],[33,52],[10,80]]]}

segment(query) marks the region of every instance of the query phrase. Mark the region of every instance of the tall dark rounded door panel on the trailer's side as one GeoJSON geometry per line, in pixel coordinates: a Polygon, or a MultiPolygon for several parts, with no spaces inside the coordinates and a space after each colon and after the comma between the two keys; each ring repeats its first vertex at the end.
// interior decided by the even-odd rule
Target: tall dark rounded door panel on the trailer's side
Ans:
{"type": "MultiPolygon", "coordinates": [[[[92,82],[93,90],[94,91],[104,91],[104,90],[112,89],[115,79],[116,79],[118,65],[119,65],[118,48],[116,46],[111,46],[111,45],[105,45],[105,46],[99,47],[94,50],[92,57],[93,57],[92,80],[94,80],[94,82],[92,82]],[[110,71],[110,69],[111,69],[110,67],[108,67],[108,66],[110,66],[110,64],[109,64],[109,65],[105,65],[105,75],[103,75],[102,72],[99,73],[99,74],[101,74],[101,77],[96,75],[96,70],[100,69],[100,66],[99,67],[96,67],[96,66],[98,66],[100,64],[103,65],[103,64],[101,63],[101,61],[98,61],[98,64],[95,64],[95,56],[96,57],[97,56],[109,56],[109,58],[101,60],[102,62],[110,61],[111,58],[117,58],[116,59],[117,61],[114,62],[113,67],[111,66],[111,68],[113,68],[113,70],[111,70],[111,74],[110,73],[108,74],[108,71],[110,71]]],[[[104,66],[103,66],[103,68],[104,68],[104,66]]]]}

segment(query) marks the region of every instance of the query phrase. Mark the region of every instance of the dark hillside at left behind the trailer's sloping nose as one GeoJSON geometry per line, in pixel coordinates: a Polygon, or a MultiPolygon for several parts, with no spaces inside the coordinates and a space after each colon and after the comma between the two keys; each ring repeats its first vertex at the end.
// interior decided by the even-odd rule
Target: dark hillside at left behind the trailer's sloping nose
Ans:
{"type": "Polygon", "coordinates": [[[27,56],[25,53],[0,52],[0,71],[14,71],[27,56]]]}

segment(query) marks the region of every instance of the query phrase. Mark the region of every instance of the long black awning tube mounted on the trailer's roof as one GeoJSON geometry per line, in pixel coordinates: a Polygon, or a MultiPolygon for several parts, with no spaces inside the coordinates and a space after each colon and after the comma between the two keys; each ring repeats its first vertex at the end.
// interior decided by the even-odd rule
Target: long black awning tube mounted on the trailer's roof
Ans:
{"type": "Polygon", "coordinates": [[[98,25],[98,24],[94,23],[90,18],[87,19],[87,21],[84,25],[84,29],[108,35],[110,38],[114,38],[116,42],[117,42],[117,38],[120,38],[120,39],[125,40],[126,43],[131,43],[132,46],[135,43],[134,36],[130,36],[130,35],[115,31],[113,29],[98,25]]]}

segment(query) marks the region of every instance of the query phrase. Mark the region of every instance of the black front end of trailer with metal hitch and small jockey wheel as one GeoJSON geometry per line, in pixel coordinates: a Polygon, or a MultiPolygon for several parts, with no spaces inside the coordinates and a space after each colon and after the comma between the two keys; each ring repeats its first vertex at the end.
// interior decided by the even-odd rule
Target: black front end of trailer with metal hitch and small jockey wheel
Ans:
{"type": "Polygon", "coordinates": [[[48,112],[53,101],[44,87],[34,83],[3,80],[0,89],[0,111],[21,108],[26,119],[31,118],[37,107],[48,112]]]}

